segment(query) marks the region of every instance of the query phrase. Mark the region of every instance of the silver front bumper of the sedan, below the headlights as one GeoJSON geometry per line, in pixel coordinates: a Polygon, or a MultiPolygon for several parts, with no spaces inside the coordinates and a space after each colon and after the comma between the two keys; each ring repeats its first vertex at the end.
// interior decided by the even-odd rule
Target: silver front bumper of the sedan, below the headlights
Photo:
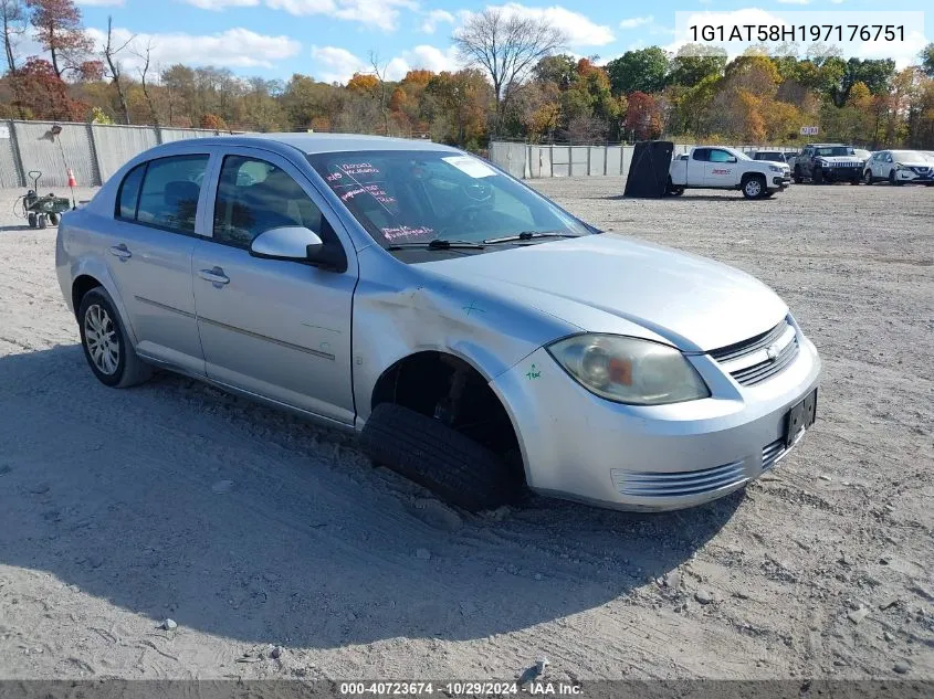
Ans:
{"type": "Polygon", "coordinates": [[[786,414],[820,375],[814,345],[800,331],[798,340],[795,361],[754,386],[692,357],[713,396],[672,405],[602,400],[544,349],[491,386],[511,413],[532,490],[613,509],[681,509],[742,488],[786,455],[786,414]]]}

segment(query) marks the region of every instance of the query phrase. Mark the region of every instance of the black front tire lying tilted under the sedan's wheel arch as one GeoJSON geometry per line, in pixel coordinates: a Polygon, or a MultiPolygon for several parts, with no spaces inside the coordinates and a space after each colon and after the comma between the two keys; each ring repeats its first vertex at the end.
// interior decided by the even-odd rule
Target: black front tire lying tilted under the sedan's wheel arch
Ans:
{"type": "Polygon", "coordinates": [[[522,478],[496,454],[396,403],[376,406],[360,442],[376,464],[471,512],[514,502],[522,490],[522,478]]]}

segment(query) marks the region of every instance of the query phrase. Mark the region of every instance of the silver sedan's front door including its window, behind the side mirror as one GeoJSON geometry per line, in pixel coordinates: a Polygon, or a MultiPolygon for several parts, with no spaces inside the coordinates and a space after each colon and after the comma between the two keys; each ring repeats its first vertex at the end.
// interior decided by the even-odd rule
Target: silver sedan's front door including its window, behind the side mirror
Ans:
{"type": "Polygon", "coordinates": [[[284,158],[237,148],[223,157],[212,209],[212,237],[197,243],[192,265],[208,377],[353,424],[356,255],[346,272],[329,272],[249,252],[260,233],[296,225],[353,252],[328,205],[284,158]]]}

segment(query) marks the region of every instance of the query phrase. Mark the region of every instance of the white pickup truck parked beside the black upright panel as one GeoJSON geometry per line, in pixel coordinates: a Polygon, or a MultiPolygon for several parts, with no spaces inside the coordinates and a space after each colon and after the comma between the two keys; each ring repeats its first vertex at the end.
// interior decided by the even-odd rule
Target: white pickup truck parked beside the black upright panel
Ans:
{"type": "Polygon", "coordinates": [[[735,148],[696,146],[671,161],[668,191],[675,197],[685,189],[738,189],[746,199],[772,197],[791,184],[786,162],[753,160],[735,148]]]}

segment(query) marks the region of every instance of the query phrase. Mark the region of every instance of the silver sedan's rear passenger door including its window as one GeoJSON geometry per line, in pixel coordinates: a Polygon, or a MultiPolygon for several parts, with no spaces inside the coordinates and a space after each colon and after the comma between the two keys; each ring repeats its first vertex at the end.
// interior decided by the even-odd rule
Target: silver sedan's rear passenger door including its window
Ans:
{"type": "Polygon", "coordinates": [[[191,255],[209,159],[208,152],[172,155],[127,172],[117,193],[115,235],[104,255],[130,314],[137,351],[198,374],[204,362],[191,255]]]}

